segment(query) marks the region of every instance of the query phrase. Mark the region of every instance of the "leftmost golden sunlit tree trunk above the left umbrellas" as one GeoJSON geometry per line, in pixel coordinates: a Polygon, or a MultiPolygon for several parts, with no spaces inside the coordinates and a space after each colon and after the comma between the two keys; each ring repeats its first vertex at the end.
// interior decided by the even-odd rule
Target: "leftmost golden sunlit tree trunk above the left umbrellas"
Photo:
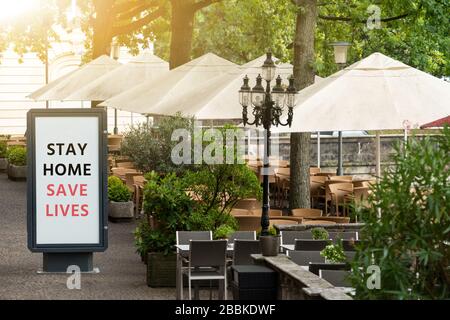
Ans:
{"type": "Polygon", "coordinates": [[[92,43],[92,60],[101,55],[111,53],[113,8],[114,1],[96,0],[94,1],[96,18],[94,21],[94,34],[92,43]]]}

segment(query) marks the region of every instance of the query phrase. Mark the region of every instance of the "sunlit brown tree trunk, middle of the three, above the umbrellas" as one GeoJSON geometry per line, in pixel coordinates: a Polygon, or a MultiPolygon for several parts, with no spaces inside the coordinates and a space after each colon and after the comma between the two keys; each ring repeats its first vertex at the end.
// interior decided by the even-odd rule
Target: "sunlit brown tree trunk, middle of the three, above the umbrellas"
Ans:
{"type": "Polygon", "coordinates": [[[172,0],[170,69],[174,69],[191,60],[195,20],[193,3],[193,0],[172,0]]]}

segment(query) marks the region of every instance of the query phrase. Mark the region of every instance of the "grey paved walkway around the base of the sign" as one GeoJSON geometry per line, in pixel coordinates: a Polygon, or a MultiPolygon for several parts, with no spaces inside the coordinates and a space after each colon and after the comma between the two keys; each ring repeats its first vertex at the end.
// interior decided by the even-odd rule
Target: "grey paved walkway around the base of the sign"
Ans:
{"type": "Polygon", "coordinates": [[[175,289],[147,287],[133,229],[134,223],[110,223],[109,249],[94,254],[101,273],[82,275],[81,290],[69,290],[66,275],[37,274],[42,254],[27,248],[26,183],[0,173],[0,299],[173,299],[175,289]]]}

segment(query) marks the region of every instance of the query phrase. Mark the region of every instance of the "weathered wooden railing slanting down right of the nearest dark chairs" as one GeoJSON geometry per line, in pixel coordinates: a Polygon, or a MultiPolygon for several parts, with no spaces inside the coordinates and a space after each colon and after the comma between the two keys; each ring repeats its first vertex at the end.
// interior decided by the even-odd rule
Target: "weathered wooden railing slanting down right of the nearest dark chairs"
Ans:
{"type": "Polygon", "coordinates": [[[283,254],[276,257],[254,254],[252,258],[278,272],[280,300],[352,300],[342,289],[303,269],[283,254]]]}

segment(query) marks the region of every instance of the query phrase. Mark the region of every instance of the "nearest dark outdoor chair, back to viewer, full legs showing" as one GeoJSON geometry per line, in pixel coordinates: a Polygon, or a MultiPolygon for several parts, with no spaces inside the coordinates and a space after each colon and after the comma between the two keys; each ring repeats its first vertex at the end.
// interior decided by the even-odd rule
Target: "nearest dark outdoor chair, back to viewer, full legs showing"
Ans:
{"type": "Polygon", "coordinates": [[[189,300],[192,300],[192,282],[201,280],[222,281],[223,298],[227,300],[227,240],[191,240],[189,266],[183,270],[188,277],[189,300]]]}

